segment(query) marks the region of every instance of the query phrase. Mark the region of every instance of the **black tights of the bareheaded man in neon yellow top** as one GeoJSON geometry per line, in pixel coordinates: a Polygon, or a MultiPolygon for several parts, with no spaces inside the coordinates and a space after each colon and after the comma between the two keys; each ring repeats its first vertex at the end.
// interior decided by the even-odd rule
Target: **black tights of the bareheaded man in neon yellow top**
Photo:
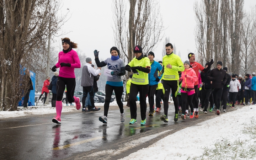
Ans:
{"type": "Polygon", "coordinates": [[[177,97],[175,96],[175,92],[178,89],[178,80],[172,80],[172,81],[166,81],[162,80],[163,86],[165,89],[165,94],[164,94],[164,114],[165,116],[168,116],[168,108],[169,108],[169,95],[170,95],[170,90],[172,91],[172,99],[174,101],[174,108],[175,108],[175,114],[178,113],[178,100],[177,97]]]}

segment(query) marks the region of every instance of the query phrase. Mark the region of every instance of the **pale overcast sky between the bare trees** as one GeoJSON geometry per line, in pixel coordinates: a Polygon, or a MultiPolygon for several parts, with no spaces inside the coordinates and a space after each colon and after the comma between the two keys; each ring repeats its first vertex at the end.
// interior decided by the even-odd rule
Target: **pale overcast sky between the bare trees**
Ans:
{"type": "MultiPolygon", "coordinates": [[[[181,52],[182,61],[187,60],[189,52],[196,53],[194,28],[194,2],[198,0],[160,0],[160,13],[163,18],[164,38],[153,50],[155,59],[162,58],[165,37],[175,44],[174,53],[181,52]]],[[[127,0],[128,2],[128,0],[127,0]]],[[[129,3],[127,3],[129,5],[129,3]]],[[[256,5],[256,0],[245,0],[245,10],[256,5]]],[[[79,44],[79,49],[87,57],[94,59],[94,50],[100,51],[99,57],[110,57],[114,45],[112,0],[63,0],[62,12],[70,11],[70,19],[63,30],[70,32],[63,37],[79,44]],[[67,10],[69,9],[69,10],[67,10]]],[[[60,41],[60,38],[58,38],[60,41]]]]}

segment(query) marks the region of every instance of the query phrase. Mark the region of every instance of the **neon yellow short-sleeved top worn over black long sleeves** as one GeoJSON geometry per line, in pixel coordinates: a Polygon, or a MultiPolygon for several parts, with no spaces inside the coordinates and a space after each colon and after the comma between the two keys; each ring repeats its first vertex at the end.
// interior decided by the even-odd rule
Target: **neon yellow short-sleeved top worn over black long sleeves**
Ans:
{"type": "MultiPolygon", "coordinates": [[[[142,67],[147,67],[149,66],[150,67],[150,60],[148,57],[143,57],[142,59],[138,60],[136,59],[136,57],[134,57],[130,63],[128,63],[128,65],[130,67],[133,67],[133,66],[142,66],[142,67]]],[[[145,73],[143,71],[139,71],[137,69],[138,73],[139,74],[133,74],[133,77],[132,77],[132,82],[133,84],[138,84],[138,85],[146,85],[146,84],[149,84],[148,82],[148,73],[145,73]]]]}

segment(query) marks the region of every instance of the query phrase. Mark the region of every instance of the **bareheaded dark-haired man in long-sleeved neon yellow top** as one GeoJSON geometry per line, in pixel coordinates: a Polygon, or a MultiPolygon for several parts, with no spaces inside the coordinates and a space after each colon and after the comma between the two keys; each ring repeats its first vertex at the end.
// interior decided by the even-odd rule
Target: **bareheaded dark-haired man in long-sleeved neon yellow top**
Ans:
{"type": "Polygon", "coordinates": [[[165,51],[166,55],[163,57],[162,64],[163,68],[162,71],[159,73],[159,75],[162,74],[162,84],[165,89],[164,94],[164,115],[160,117],[162,121],[165,123],[168,122],[168,108],[169,108],[169,95],[170,90],[172,91],[172,99],[174,101],[174,107],[175,107],[175,116],[174,121],[178,121],[178,100],[177,100],[177,92],[178,92],[178,80],[179,75],[178,71],[184,71],[184,66],[181,61],[181,58],[173,53],[173,46],[171,43],[167,43],[165,45],[165,51]]]}

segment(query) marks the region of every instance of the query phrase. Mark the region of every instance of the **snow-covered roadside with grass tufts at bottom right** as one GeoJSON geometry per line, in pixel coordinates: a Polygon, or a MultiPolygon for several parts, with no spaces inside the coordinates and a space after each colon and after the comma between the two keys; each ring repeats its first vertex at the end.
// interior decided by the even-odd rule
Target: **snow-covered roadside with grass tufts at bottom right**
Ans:
{"type": "Polygon", "coordinates": [[[256,159],[255,114],[256,105],[221,114],[168,135],[123,160],[256,159]]]}

